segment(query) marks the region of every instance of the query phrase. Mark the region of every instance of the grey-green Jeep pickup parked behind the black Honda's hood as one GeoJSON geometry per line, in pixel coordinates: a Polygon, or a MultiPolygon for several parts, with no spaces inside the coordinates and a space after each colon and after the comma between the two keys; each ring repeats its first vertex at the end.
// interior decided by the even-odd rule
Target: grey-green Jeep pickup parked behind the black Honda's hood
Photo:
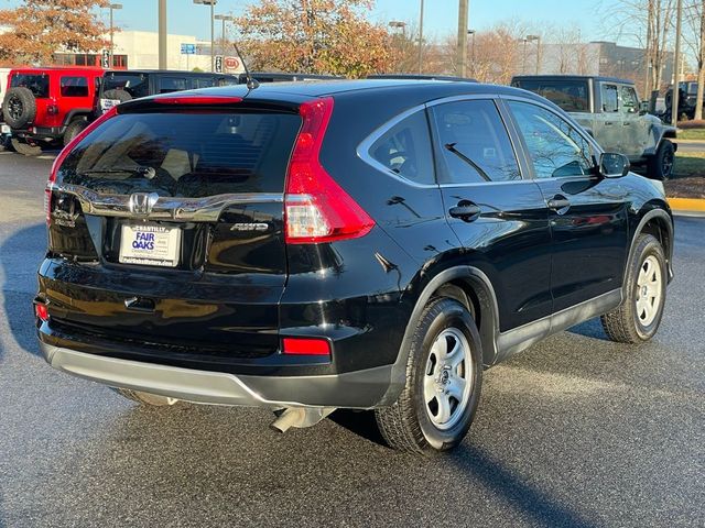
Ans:
{"type": "Polygon", "coordinates": [[[668,179],[675,163],[676,130],[648,113],[634,84],[611,77],[516,76],[512,86],[545,97],[568,112],[609,152],[643,166],[648,177],[668,179]]]}

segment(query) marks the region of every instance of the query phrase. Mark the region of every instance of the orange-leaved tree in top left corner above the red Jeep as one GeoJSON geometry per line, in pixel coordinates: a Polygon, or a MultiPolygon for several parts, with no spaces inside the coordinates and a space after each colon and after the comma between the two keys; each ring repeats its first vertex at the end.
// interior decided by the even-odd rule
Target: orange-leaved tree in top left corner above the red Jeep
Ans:
{"type": "Polygon", "coordinates": [[[0,10],[0,63],[50,64],[57,51],[98,52],[108,45],[108,29],[97,8],[108,0],[23,0],[0,10]]]}

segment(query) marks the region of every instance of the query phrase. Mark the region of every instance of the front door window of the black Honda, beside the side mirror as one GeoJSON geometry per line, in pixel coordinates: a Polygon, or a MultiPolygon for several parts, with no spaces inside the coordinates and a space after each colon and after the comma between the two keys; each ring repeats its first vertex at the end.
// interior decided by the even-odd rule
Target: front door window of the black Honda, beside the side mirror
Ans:
{"type": "Polygon", "coordinates": [[[509,102],[536,178],[584,176],[595,163],[590,145],[563,118],[536,105],[509,102]]]}

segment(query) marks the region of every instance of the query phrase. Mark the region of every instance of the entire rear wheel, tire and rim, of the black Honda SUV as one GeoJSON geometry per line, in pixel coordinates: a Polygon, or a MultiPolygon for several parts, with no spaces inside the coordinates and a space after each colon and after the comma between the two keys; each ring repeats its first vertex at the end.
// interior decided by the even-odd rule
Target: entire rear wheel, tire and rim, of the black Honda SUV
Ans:
{"type": "Polygon", "coordinates": [[[454,299],[432,300],[411,342],[402,394],[391,407],[375,411],[389,446],[419,453],[458,446],[479,402],[481,358],[467,308],[454,299]]]}

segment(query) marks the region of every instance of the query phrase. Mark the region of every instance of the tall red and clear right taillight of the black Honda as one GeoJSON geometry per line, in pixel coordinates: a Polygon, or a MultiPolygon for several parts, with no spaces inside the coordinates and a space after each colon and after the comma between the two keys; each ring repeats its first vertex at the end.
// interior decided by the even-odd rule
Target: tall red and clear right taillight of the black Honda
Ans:
{"type": "Polygon", "coordinates": [[[290,244],[316,244],[364,237],[375,221],[333,179],[319,161],[333,98],[301,105],[303,124],[286,175],[285,239],[290,244]]]}

